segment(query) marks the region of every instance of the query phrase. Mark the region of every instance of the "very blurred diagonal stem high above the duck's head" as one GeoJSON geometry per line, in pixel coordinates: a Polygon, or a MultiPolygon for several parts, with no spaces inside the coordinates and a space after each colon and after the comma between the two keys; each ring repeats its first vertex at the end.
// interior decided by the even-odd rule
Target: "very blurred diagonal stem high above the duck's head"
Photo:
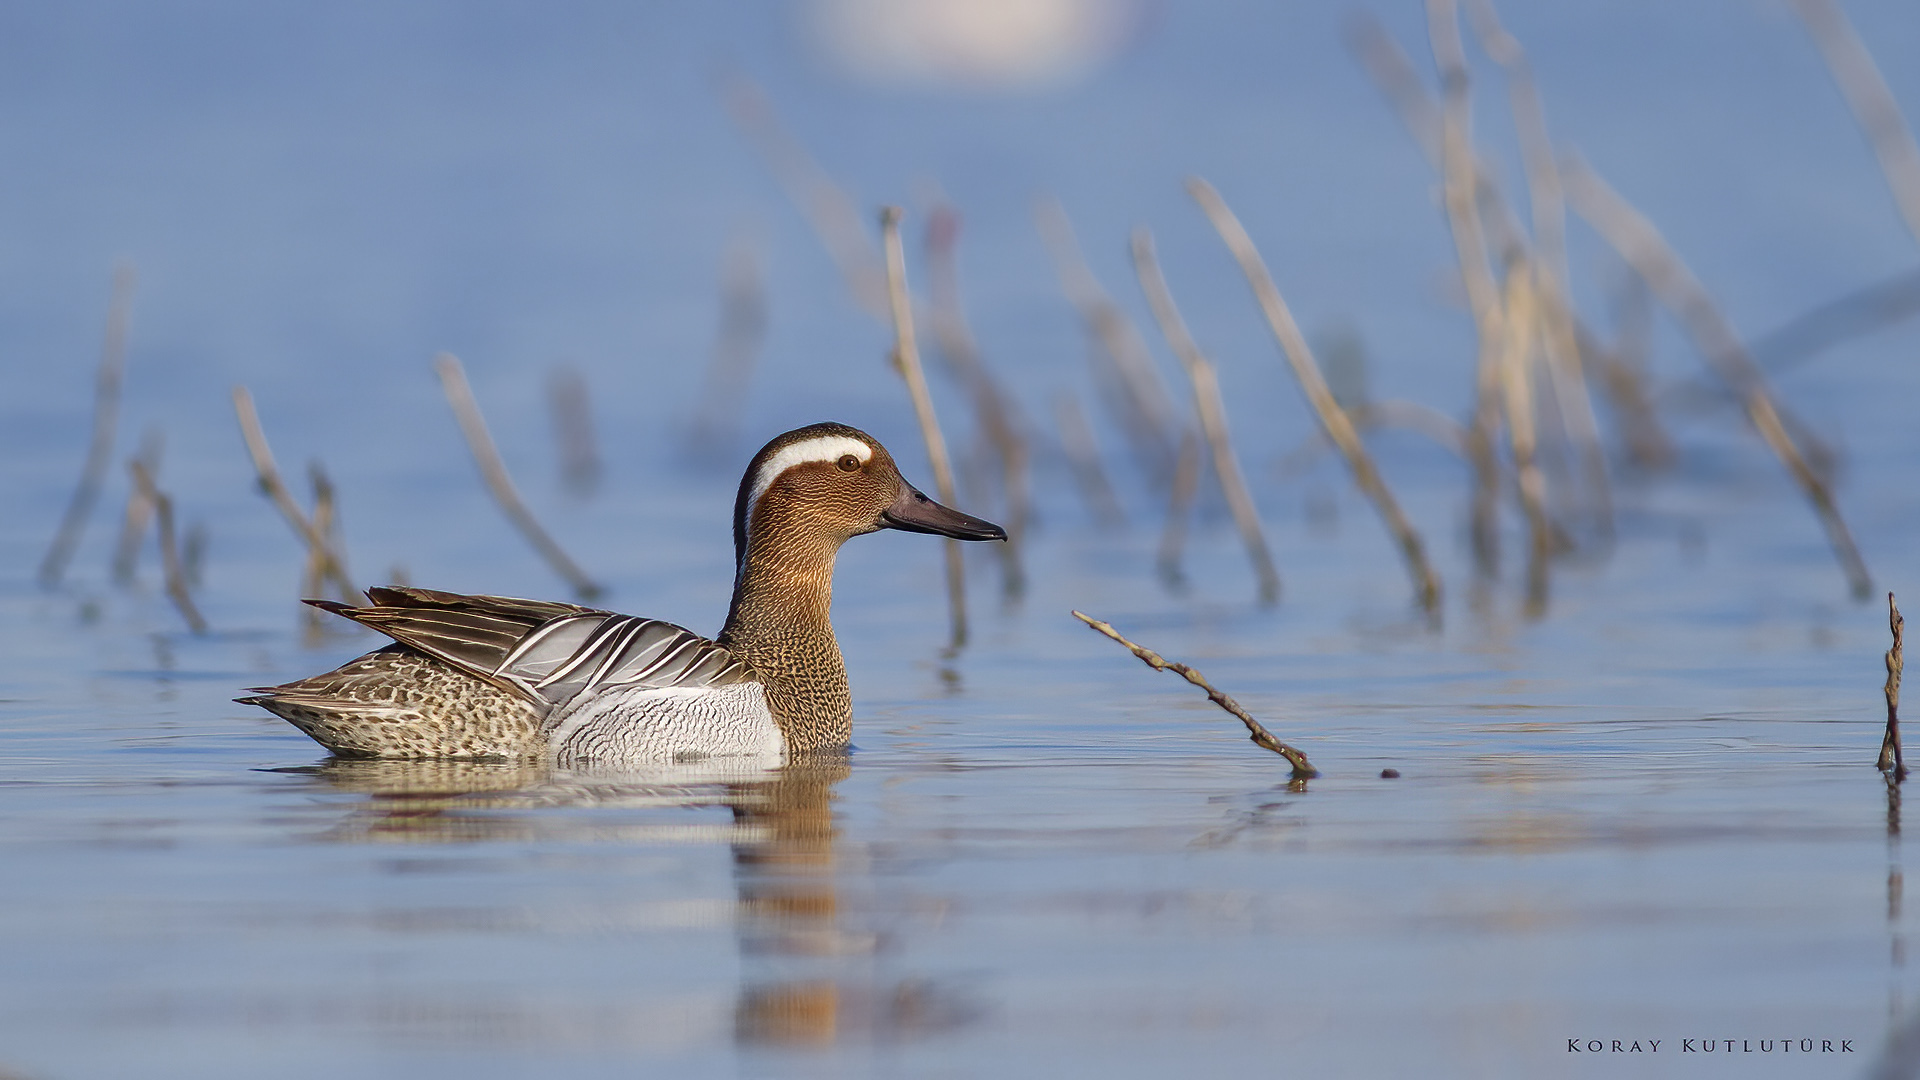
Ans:
{"type": "Polygon", "coordinates": [[[780,127],[774,106],[755,83],[730,77],[724,92],[733,121],[766,156],[774,179],[801,208],[806,223],[814,227],[814,234],[839,265],[854,302],[868,315],[885,323],[889,317],[885,263],[868,240],[858,204],[833,183],[833,177],[797,138],[780,127]]]}

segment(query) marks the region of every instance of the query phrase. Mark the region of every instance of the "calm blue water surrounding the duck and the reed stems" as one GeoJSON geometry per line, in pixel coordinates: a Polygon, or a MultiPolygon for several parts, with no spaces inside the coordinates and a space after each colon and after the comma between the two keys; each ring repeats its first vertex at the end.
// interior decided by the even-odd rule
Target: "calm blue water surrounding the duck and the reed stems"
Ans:
{"type": "MultiPolygon", "coordinates": [[[[1866,1072],[1920,1005],[1901,809],[1870,767],[1884,607],[1847,600],[1732,409],[1676,405],[1680,465],[1620,479],[1617,544],[1559,563],[1538,621],[1517,511],[1505,577],[1476,594],[1465,469],[1380,432],[1448,586],[1428,628],[1342,469],[1281,469],[1309,419],[1181,190],[1188,173],[1221,188],[1309,332],[1357,329],[1375,396],[1463,415],[1473,327],[1434,179],[1340,48],[1348,10],[1273,8],[1152,6],[1085,81],[995,92],[849,79],[778,4],[0,15],[0,1072],[1866,1072]],[[960,209],[973,331],[1041,436],[1029,594],[1004,603],[975,552],[973,642],[945,655],[937,546],[852,542],[843,771],[328,763],[230,703],[374,646],[303,640],[301,553],[252,486],[234,382],[301,496],[309,459],[338,482],[355,578],[563,596],[474,479],[430,369],[457,352],[607,603],[703,632],[762,438],[841,419],[931,482],[887,332],[728,119],[730,71],[862,211],[960,209]],[[1094,404],[1033,229],[1041,194],[1142,327],[1125,234],[1156,231],[1221,365],[1279,607],[1252,603],[1213,494],[1188,588],[1156,580],[1160,503],[1094,404]],[[737,438],[695,452],[739,244],[764,267],[768,334],[737,438]],[[163,434],[161,484],[207,536],[205,636],[167,605],[152,546],[134,586],[108,573],[119,461],[67,580],[33,580],[84,454],[121,258],[140,284],[117,459],[163,434]],[[593,390],[591,498],[557,480],[561,363],[593,390]],[[1075,494],[1058,392],[1094,413],[1129,527],[1075,494]],[[1196,663],[1325,774],[1288,786],[1231,717],[1073,607],[1196,663]],[[1636,1038],[1659,1051],[1567,1051],[1636,1038]],[[1803,1038],[1853,1053],[1803,1061],[1803,1038]]],[[[1920,111],[1903,60],[1920,21],[1849,12],[1920,111]]],[[[1415,6],[1379,15],[1423,58],[1415,6]]],[[[1743,332],[1914,263],[1788,12],[1507,15],[1557,135],[1743,332]]],[[[1517,192],[1501,83],[1476,71],[1480,135],[1517,192]]],[[[1609,332],[1617,259],[1576,227],[1572,267],[1609,332]]],[[[1778,386],[1843,454],[1876,586],[1920,609],[1916,350],[1920,331],[1887,329],[1778,386]]],[[[1701,369],[1667,325],[1651,363],[1665,384],[1701,369]]],[[[966,448],[958,388],[935,394],[966,448]]],[[[985,492],[962,503],[998,513],[985,492]]]]}

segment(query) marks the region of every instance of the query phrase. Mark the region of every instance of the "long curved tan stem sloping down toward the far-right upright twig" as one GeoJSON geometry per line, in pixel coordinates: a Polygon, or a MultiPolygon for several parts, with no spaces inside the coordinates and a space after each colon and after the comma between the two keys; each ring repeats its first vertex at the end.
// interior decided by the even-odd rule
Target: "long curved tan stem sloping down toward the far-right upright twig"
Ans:
{"type": "Polygon", "coordinates": [[[1667,244],[1659,229],[1607,186],[1586,163],[1569,161],[1561,173],[1567,179],[1567,196],[1574,209],[1634,267],[1634,273],[1647,282],[1659,302],[1674,313],[1688,336],[1693,338],[1693,348],[1701,352],[1707,363],[1740,396],[1741,405],[1747,409],[1747,419],[1761,432],[1761,438],[1766,440],[1766,446],[1772,448],[1774,455],[1780,457],[1780,463],[1786,465],[1793,482],[1799,484],[1801,494],[1812,503],[1820,525],[1826,527],[1828,544],[1832,544],[1834,555],[1847,575],[1855,600],[1866,600],[1874,588],[1872,577],[1866,573],[1860,550],[1853,544],[1853,532],[1847,530],[1847,523],[1839,517],[1832,488],[1807,463],[1799,444],[1788,434],[1780,409],[1766,392],[1766,380],[1759,365],[1753,363],[1747,346],[1734,332],[1734,327],[1720,313],[1718,306],[1715,306],[1713,296],[1707,294],[1707,286],[1680,261],[1680,256],[1667,244]]]}

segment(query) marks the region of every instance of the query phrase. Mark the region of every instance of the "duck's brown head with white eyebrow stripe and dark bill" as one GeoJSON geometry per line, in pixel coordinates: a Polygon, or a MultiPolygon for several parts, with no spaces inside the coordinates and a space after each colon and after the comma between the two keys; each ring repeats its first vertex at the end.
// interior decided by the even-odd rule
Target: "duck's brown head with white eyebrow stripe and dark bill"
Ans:
{"type": "Polygon", "coordinates": [[[820,423],[760,448],[733,500],[733,553],[741,567],[755,540],[828,550],[849,536],[900,528],[954,540],[1006,540],[1006,530],[945,507],[900,477],[893,455],[860,429],[820,423]]]}

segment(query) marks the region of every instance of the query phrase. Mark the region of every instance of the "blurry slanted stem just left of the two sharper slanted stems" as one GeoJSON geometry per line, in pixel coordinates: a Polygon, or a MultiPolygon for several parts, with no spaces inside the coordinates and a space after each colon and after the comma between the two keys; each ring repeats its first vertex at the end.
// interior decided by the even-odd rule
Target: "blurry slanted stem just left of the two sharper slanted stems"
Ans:
{"type": "Polygon", "coordinates": [[[1079,311],[1087,336],[1098,346],[1092,356],[1108,361],[1108,382],[1117,384],[1119,423],[1133,452],[1156,488],[1171,479],[1181,425],[1173,419],[1173,398],[1154,375],[1154,354],[1131,319],[1100,288],[1087,256],[1073,236],[1073,225],[1056,200],[1043,200],[1033,211],[1041,240],[1054,258],[1060,288],[1079,311]]]}

